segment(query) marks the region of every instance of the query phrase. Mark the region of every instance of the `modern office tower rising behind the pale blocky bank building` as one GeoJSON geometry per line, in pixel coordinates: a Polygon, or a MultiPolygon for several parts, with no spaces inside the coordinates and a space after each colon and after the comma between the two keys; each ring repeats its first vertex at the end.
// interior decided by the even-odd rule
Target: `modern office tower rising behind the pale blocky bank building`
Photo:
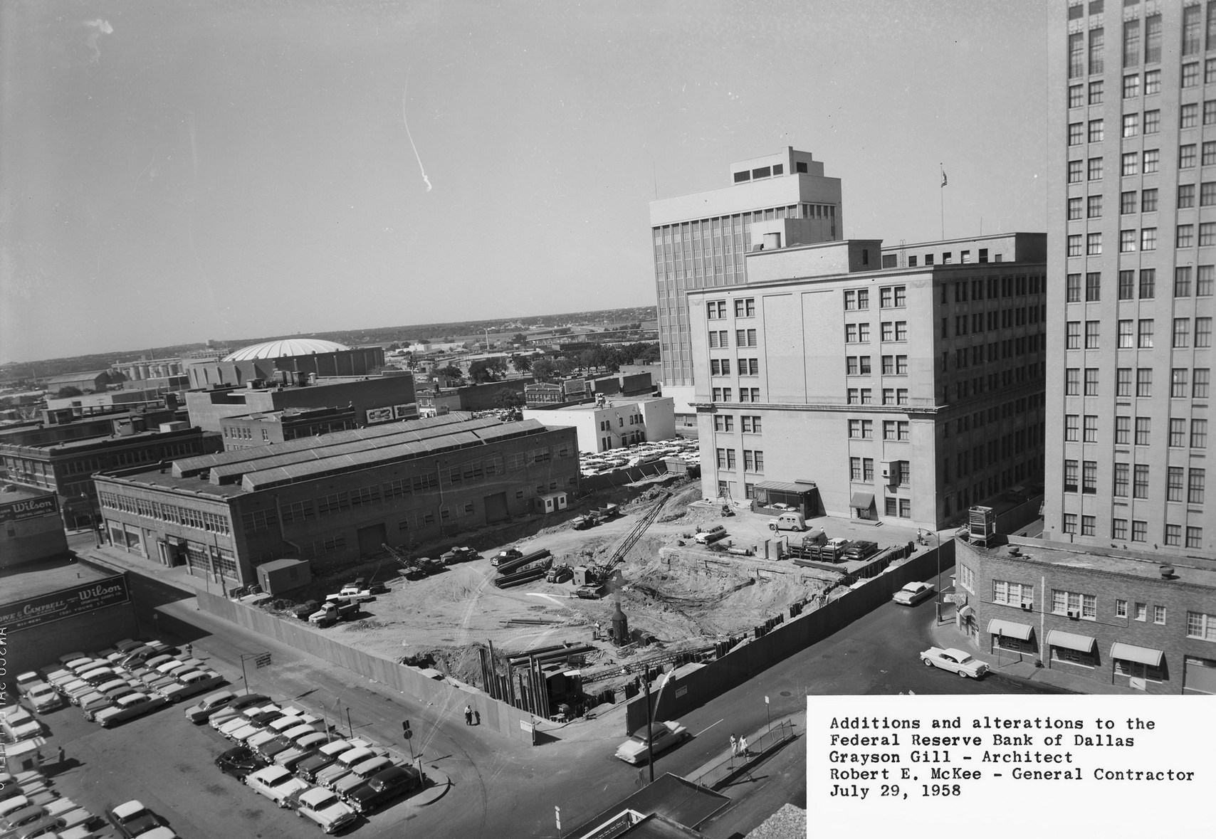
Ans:
{"type": "Polygon", "coordinates": [[[764,243],[751,225],[767,225],[770,242],[814,244],[844,238],[840,179],[824,178],[810,152],[731,164],[731,185],[651,202],[654,281],[658,287],[663,395],[675,398],[676,426],[696,428],[688,303],[698,288],[745,281],[743,255],[764,243]]]}

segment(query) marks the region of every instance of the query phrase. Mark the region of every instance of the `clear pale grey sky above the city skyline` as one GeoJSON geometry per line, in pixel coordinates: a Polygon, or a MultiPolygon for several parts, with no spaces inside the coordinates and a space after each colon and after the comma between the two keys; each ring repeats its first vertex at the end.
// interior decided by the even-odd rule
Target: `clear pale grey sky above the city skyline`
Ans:
{"type": "Polygon", "coordinates": [[[0,0],[0,361],[653,304],[648,202],[786,146],[1045,230],[1045,7],[0,0]]]}

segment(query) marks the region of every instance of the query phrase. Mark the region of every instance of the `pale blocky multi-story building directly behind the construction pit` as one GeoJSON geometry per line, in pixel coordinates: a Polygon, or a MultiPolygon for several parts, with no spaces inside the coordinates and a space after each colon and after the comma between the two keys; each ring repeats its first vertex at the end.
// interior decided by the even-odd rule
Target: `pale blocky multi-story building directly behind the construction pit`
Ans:
{"type": "Polygon", "coordinates": [[[1042,233],[779,244],[688,292],[705,497],[938,529],[1038,479],[1042,233]]]}

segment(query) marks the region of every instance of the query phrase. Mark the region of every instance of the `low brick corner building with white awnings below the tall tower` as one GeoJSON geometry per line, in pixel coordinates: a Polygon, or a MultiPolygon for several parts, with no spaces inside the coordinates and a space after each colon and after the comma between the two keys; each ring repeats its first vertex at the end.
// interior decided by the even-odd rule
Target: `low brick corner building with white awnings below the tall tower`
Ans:
{"type": "Polygon", "coordinates": [[[956,550],[958,627],[997,660],[1216,693],[1216,563],[1020,539],[956,550]]]}

